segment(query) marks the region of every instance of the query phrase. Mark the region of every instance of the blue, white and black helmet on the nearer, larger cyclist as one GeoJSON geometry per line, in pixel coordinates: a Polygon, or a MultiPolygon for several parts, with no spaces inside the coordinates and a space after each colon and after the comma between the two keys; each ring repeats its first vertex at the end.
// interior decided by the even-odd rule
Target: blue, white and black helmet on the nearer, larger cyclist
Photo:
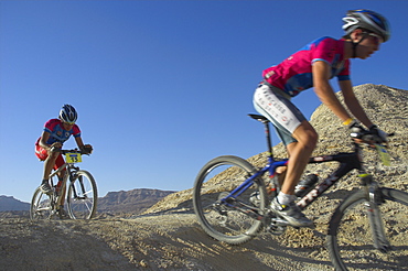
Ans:
{"type": "Polygon", "coordinates": [[[348,10],[343,18],[343,30],[350,35],[356,29],[364,29],[383,37],[384,42],[390,37],[387,19],[371,10],[348,10]]]}

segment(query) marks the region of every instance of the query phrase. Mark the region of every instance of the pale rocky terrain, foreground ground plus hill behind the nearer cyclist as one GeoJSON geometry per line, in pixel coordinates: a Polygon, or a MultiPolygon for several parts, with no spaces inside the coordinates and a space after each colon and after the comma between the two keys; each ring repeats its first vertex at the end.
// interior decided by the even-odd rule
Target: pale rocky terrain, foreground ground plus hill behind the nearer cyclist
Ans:
{"type": "MultiPolygon", "coordinates": [[[[408,91],[371,84],[355,91],[379,128],[396,133],[389,142],[391,166],[380,165],[366,151],[368,170],[380,173],[387,186],[408,191],[408,91]]],[[[315,110],[311,122],[320,134],[315,155],[351,147],[347,129],[324,106],[315,110]]],[[[273,151],[284,156],[282,145],[273,151]]],[[[261,166],[265,156],[260,153],[248,160],[261,166]]],[[[325,163],[308,171],[324,177],[331,167],[325,163]]],[[[347,192],[359,187],[355,175],[350,174],[305,210],[315,229],[288,228],[281,236],[265,232],[243,246],[228,246],[203,232],[192,212],[191,189],[172,193],[130,218],[101,214],[89,221],[31,223],[0,217],[0,270],[333,270],[324,247],[328,221],[347,192]]],[[[407,265],[398,270],[407,270],[407,265]]],[[[379,269],[393,268],[385,262],[379,269]]]]}

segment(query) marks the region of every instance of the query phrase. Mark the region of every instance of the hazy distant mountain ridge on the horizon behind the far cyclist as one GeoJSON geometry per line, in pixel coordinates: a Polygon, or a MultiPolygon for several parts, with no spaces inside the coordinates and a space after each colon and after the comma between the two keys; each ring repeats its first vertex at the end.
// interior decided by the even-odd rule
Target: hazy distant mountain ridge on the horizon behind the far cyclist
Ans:
{"type": "MultiPolygon", "coordinates": [[[[108,192],[98,198],[99,213],[139,214],[174,191],[137,188],[131,191],[108,192]]],[[[13,196],[0,196],[0,212],[30,210],[30,203],[21,202],[13,196]]]]}

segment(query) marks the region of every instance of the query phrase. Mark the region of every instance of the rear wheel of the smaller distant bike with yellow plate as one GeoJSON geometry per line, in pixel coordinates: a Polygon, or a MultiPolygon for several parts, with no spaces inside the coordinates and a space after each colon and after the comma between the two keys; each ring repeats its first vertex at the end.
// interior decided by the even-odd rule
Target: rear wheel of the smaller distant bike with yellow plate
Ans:
{"type": "Polygon", "coordinates": [[[52,214],[51,196],[41,192],[37,187],[31,199],[30,218],[31,220],[50,219],[52,214]]]}

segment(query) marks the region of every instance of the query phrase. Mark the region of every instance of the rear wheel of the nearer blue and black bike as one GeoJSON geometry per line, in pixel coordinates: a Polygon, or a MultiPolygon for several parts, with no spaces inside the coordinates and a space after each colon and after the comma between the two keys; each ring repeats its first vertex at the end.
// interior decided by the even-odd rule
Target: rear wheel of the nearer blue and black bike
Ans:
{"type": "Polygon", "coordinates": [[[221,202],[255,172],[250,163],[237,156],[216,158],[200,171],[194,184],[193,205],[207,235],[219,241],[239,245],[253,239],[262,228],[262,221],[254,217],[265,213],[267,202],[260,177],[240,195],[221,202]],[[254,193],[258,195],[258,206],[250,202],[254,193]]]}

